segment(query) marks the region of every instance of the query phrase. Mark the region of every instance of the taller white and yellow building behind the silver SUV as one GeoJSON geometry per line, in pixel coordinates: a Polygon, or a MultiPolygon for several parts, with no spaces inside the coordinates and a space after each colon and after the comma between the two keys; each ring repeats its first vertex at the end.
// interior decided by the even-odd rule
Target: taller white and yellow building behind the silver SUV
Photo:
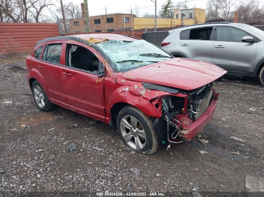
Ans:
{"type": "Polygon", "coordinates": [[[205,23],[205,9],[192,8],[186,10],[174,10],[175,19],[184,19],[184,25],[186,19],[194,19],[194,24],[205,23]]]}

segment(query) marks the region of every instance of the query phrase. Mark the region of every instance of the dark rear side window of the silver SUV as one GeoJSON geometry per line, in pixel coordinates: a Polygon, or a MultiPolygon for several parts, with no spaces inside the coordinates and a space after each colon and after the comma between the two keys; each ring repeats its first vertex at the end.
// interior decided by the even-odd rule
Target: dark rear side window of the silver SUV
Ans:
{"type": "Polygon", "coordinates": [[[210,40],[213,27],[201,27],[184,30],[181,32],[181,40],[210,40]]]}

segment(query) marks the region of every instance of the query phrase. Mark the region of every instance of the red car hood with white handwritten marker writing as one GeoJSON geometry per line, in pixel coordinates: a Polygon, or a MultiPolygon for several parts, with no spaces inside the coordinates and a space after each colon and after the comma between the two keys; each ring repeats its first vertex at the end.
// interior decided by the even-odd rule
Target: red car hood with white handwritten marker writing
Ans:
{"type": "Polygon", "coordinates": [[[123,73],[127,79],[193,90],[227,73],[218,66],[195,59],[173,58],[123,73]]]}

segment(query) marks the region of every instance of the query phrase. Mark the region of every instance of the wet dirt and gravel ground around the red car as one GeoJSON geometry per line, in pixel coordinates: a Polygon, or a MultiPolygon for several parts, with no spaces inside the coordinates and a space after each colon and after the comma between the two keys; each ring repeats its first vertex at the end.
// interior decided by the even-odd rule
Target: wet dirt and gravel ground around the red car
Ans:
{"type": "Polygon", "coordinates": [[[245,196],[245,175],[264,177],[264,86],[254,78],[215,82],[221,93],[217,110],[199,136],[209,143],[197,136],[142,155],[107,124],[62,107],[39,111],[25,74],[24,62],[0,64],[0,196],[195,196],[195,190],[204,197],[245,196]],[[66,151],[70,144],[77,150],[66,151]]]}

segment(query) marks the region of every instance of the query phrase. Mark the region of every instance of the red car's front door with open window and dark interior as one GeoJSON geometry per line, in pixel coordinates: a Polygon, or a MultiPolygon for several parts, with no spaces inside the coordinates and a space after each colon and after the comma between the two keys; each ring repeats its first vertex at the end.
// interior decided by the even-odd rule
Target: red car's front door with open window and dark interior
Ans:
{"type": "Polygon", "coordinates": [[[104,121],[104,74],[96,70],[99,65],[103,68],[99,54],[76,41],[67,41],[63,50],[66,64],[61,68],[61,80],[67,108],[104,121]]]}

